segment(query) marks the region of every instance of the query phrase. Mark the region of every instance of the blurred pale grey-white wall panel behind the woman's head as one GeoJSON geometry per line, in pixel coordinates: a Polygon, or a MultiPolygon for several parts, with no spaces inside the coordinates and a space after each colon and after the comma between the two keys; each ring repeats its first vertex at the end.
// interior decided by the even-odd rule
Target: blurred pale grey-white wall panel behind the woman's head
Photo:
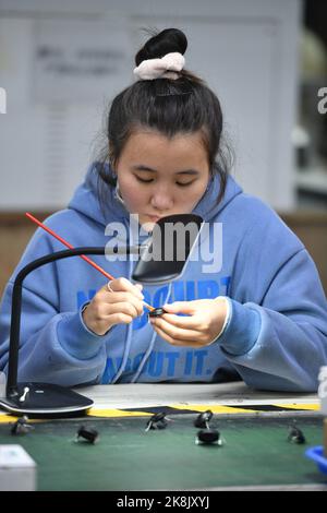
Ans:
{"type": "Polygon", "coordinates": [[[145,40],[140,28],[178,26],[189,38],[187,69],[222,104],[237,180],[274,207],[291,210],[300,7],[300,0],[0,0],[0,87],[7,91],[0,208],[66,204],[92,158],[105,106],[133,80],[134,53],[145,40]],[[78,48],[116,53],[102,74],[77,70],[69,77],[51,74],[51,58],[37,53],[45,45],[71,64],[78,48]]]}

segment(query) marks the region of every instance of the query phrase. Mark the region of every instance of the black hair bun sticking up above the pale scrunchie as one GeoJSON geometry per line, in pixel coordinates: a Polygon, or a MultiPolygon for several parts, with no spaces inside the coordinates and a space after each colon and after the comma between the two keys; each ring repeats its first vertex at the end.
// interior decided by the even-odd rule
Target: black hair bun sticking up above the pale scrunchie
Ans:
{"type": "Polygon", "coordinates": [[[138,50],[135,56],[135,63],[140,65],[144,60],[160,59],[167,53],[175,51],[184,55],[186,48],[187,39],[182,31],[179,28],[165,28],[165,31],[148,39],[138,50]]]}

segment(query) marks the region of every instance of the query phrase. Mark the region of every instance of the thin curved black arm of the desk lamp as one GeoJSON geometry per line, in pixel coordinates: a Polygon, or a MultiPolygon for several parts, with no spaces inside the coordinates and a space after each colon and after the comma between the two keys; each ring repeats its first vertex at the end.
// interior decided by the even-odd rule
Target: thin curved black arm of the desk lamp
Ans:
{"type": "Polygon", "coordinates": [[[8,361],[8,380],[7,396],[14,397],[17,395],[17,371],[19,371],[19,350],[20,350],[20,333],[22,317],[22,294],[23,282],[25,277],[38,267],[57,260],[68,259],[70,256],[80,256],[81,254],[138,254],[140,247],[131,246],[125,248],[107,248],[107,247],[83,247],[57,251],[51,254],[41,256],[29,262],[16,275],[13,284],[12,307],[11,307],[11,324],[10,324],[10,344],[9,344],[9,361],[8,361]]]}

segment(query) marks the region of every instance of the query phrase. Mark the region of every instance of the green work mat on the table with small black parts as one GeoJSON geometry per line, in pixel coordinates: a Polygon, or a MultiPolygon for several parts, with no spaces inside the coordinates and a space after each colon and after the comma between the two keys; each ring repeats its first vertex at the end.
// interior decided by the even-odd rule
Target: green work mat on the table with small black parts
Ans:
{"type": "MultiPolygon", "coordinates": [[[[277,414],[276,414],[277,415],[277,414]]],[[[304,456],[322,445],[323,419],[303,417],[214,417],[222,446],[196,445],[196,415],[168,415],[162,430],[145,431],[148,417],[85,418],[34,422],[12,436],[0,425],[0,443],[19,443],[37,464],[38,490],[191,490],[217,487],[327,482],[304,456]],[[96,429],[95,444],[76,442],[84,425],[96,429]],[[299,427],[306,444],[288,441],[299,427]]]]}

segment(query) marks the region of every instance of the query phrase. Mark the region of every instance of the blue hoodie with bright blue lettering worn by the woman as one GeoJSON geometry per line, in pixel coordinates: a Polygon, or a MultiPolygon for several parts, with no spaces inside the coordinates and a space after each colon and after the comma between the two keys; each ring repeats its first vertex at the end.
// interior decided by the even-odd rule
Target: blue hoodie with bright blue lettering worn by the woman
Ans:
{"type": "MultiPolygon", "coordinates": [[[[68,208],[46,220],[74,247],[106,246],[108,223],[129,227],[129,213],[113,188],[105,186],[106,208],[100,207],[97,183],[95,166],[90,166],[68,208]]],[[[315,391],[319,367],[327,362],[327,303],[315,264],[270,207],[245,194],[232,177],[217,205],[219,187],[216,176],[194,213],[202,215],[210,230],[217,223],[222,226],[221,269],[206,273],[204,262],[190,260],[175,282],[143,289],[145,301],[154,307],[226,296],[228,325],[213,344],[202,348],[168,344],[147,322],[146,309],[130,325],[118,324],[102,336],[94,334],[81,311],[106,278],[82,259],[70,258],[25,278],[19,381],[72,386],[243,379],[256,389],[315,391]]],[[[38,228],[9,281],[0,313],[1,370],[8,367],[12,287],[17,271],[62,249],[38,228]]],[[[92,259],[116,277],[129,278],[134,265],[125,259],[92,259]]]]}

